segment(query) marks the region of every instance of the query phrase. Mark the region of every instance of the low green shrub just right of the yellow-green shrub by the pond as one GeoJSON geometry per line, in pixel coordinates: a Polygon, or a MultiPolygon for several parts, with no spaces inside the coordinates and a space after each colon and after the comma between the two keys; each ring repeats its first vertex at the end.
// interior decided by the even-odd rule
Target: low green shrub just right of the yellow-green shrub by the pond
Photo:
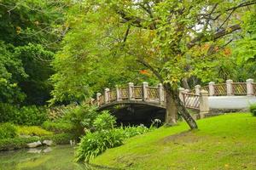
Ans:
{"type": "Polygon", "coordinates": [[[42,124],[42,127],[44,127],[46,130],[49,130],[51,132],[55,133],[71,133],[73,131],[73,125],[71,122],[49,122],[46,121],[42,124]]]}

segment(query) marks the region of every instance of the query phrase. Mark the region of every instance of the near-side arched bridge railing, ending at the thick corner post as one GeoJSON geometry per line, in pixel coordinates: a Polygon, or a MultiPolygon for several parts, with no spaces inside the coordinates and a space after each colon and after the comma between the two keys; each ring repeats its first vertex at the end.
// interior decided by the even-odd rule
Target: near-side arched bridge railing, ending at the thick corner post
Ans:
{"type": "MultiPolygon", "coordinates": [[[[191,94],[184,91],[181,92],[180,99],[182,99],[187,108],[204,111],[201,106],[204,104],[204,96],[207,96],[207,92],[205,94],[191,94]]],[[[148,82],[143,82],[142,86],[134,86],[132,82],[129,82],[125,88],[115,88],[112,90],[105,88],[104,94],[97,93],[96,99],[92,103],[100,108],[106,105],[121,103],[147,103],[148,105],[165,108],[166,92],[161,83],[157,87],[149,87],[148,82]]]]}

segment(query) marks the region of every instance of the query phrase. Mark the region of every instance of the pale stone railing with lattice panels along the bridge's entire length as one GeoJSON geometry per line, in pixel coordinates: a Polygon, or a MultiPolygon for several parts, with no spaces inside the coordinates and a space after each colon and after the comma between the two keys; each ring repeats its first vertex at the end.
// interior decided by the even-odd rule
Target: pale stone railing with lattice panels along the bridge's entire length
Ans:
{"type": "MultiPolygon", "coordinates": [[[[247,82],[233,82],[227,80],[226,83],[215,84],[209,82],[208,86],[196,85],[195,89],[179,88],[179,98],[186,108],[200,111],[201,114],[208,113],[211,109],[209,99],[211,96],[255,96],[256,83],[253,79],[247,82]]],[[[166,92],[160,83],[157,87],[148,87],[148,82],[143,82],[142,86],[134,86],[132,82],[125,88],[109,89],[105,88],[104,94],[97,93],[92,104],[101,107],[106,105],[116,105],[122,103],[147,103],[150,105],[166,107],[166,92]]]]}

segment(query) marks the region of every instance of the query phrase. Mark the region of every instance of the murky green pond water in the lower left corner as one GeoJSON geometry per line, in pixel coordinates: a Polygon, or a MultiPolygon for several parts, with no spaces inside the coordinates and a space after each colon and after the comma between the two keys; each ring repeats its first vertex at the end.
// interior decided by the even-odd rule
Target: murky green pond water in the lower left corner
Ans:
{"type": "Polygon", "coordinates": [[[70,145],[0,151],[0,170],[105,169],[75,163],[73,159],[74,148],[70,145]]]}

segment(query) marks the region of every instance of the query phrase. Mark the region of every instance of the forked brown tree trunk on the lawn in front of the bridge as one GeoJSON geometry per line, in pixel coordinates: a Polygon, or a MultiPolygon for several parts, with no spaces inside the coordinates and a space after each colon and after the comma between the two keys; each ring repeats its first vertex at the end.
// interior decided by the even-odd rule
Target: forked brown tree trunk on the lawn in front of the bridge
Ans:
{"type": "Polygon", "coordinates": [[[197,124],[179,99],[178,91],[173,90],[169,83],[164,84],[166,90],[166,123],[174,124],[177,121],[177,112],[189,124],[191,129],[197,128],[197,124]],[[171,99],[170,99],[171,98],[171,99]]]}

